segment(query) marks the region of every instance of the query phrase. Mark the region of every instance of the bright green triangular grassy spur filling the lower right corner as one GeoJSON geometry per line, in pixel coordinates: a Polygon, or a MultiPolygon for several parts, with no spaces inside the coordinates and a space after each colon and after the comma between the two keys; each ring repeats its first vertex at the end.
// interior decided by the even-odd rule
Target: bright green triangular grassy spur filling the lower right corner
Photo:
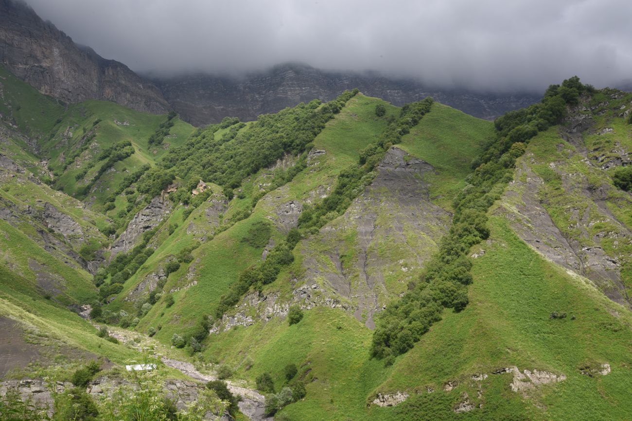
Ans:
{"type": "Polygon", "coordinates": [[[466,391],[473,403],[484,405],[464,418],[487,419],[492,410],[503,419],[563,419],[568,413],[586,420],[624,417],[626,390],[632,386],[629,312],[583,278],[545,261],[502,218],[492,217],[490,225],[491,244],[485,244],[485,255],[474,261],[468,307],[459,314],[444,313],[444,320],[400,357],[379,388],[422,393],[396,410],[376,412],[383,412],[385,418],[413,419],[422,409],[447,417],[466,391]],[[569,317],[549,319],[553,311],[568,312],[569,317]],[[580,365],[603,363],[612,366],[608,376],[593,378],[578,372],[580,365]],[[490,374],[509,365],[566,374],[568,379],[538,388],[520,401],[507,388],[509,374],[490,374]],[[480,399],[476,382],[471,381],[476,373],[489,374],[480,399]],[[461,384],[446,398],[442,386],[453,380],[461,384]],[[496,382],[504,386],[494,391],[496,382]],[[441,398],[423,393],[425,387],[434,388],[441,398]]]}

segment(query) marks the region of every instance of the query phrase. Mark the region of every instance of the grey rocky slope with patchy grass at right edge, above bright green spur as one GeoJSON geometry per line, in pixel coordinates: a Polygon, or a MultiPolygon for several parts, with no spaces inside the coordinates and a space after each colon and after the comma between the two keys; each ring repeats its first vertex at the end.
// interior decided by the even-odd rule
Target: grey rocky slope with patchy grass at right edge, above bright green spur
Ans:
{"type": "Polygon", "coordinates": [[[586,148],[584,134],[593,131],[593,119],[591,114],[583,114],[583,110],[585,107],[581,106],[571,109],[561,129],[557,145],[561,156],[535,157],[527,151],[518,161],[514,182],[507,188],[503,205],[496,213],[504,215],[514,232],[545,258],[585,276],[611,300],[631,308],[632,299],[621,272],[632,264],[626,251],[632,244],[632,232],[617,219],[610,206],[629,208],[632,197],[623,194],[617,198],[617,189],[609,179],[603,179],[600,184],[569,166],[573,158],[581,158],[575,165],[585,165],[585,172],[593,174],[596,180],[604,167],[605,159],[593,156],[594,151],[586,148]],[[533,165],[547,165],[559,177],[561,186],[557,193],[550,193],[550,187],[547,189],[533,165]],[[560,196],[560,192],[564,196],[560,196]],[[595,232],[593,227],[604,228],[595,232]]]}

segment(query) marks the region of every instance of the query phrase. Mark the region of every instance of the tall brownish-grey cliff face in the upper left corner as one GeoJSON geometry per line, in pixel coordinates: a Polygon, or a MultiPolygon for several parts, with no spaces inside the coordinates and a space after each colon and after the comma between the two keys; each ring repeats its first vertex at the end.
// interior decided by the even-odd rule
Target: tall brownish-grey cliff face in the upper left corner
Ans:
{"type": "Polygon", "coordinates": [[[26,4],[0,0],[0,62],[40,92],[66,102],[99,99],[161,114],[161,92],[125,64],[80,47],[26,4]]]}

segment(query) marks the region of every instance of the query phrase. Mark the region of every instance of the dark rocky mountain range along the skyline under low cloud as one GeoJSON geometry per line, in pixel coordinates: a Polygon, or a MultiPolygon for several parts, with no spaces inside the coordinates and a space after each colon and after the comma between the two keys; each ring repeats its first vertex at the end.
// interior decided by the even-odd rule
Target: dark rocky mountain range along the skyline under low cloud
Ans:
{"type": "Polygon", "coordinates": [[[539,100],[530,93],[492,94],[429,88],[414,80],[321,71],[284,64],[245,78],[186,74],[150,80],[125,64],[107,60],[42,21],[21,0],[0,1],[0,63],[44,95],[64,102],[106,100],[142,112],[173,109],[195,126],[238,117],[253,121],[313,98],[331,100],[344,90],[404,105],[432,96],[472,116],[494,119],[539,100]]]}

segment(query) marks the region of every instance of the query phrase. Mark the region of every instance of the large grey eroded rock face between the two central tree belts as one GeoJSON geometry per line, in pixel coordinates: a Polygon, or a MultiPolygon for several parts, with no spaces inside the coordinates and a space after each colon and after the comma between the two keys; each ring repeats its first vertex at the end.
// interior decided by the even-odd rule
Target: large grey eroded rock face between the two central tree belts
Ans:
{"type": "Polygon", "coordinates": [[[354,302],[356,319],[368,328],[393,293],[385,280],[403,292],[449,226],[450,216],[430,202],[421,179],[432,171],[430,164],[391,148],[346,213],[301,242],[307,283],[324,280],[354,302]]]}

